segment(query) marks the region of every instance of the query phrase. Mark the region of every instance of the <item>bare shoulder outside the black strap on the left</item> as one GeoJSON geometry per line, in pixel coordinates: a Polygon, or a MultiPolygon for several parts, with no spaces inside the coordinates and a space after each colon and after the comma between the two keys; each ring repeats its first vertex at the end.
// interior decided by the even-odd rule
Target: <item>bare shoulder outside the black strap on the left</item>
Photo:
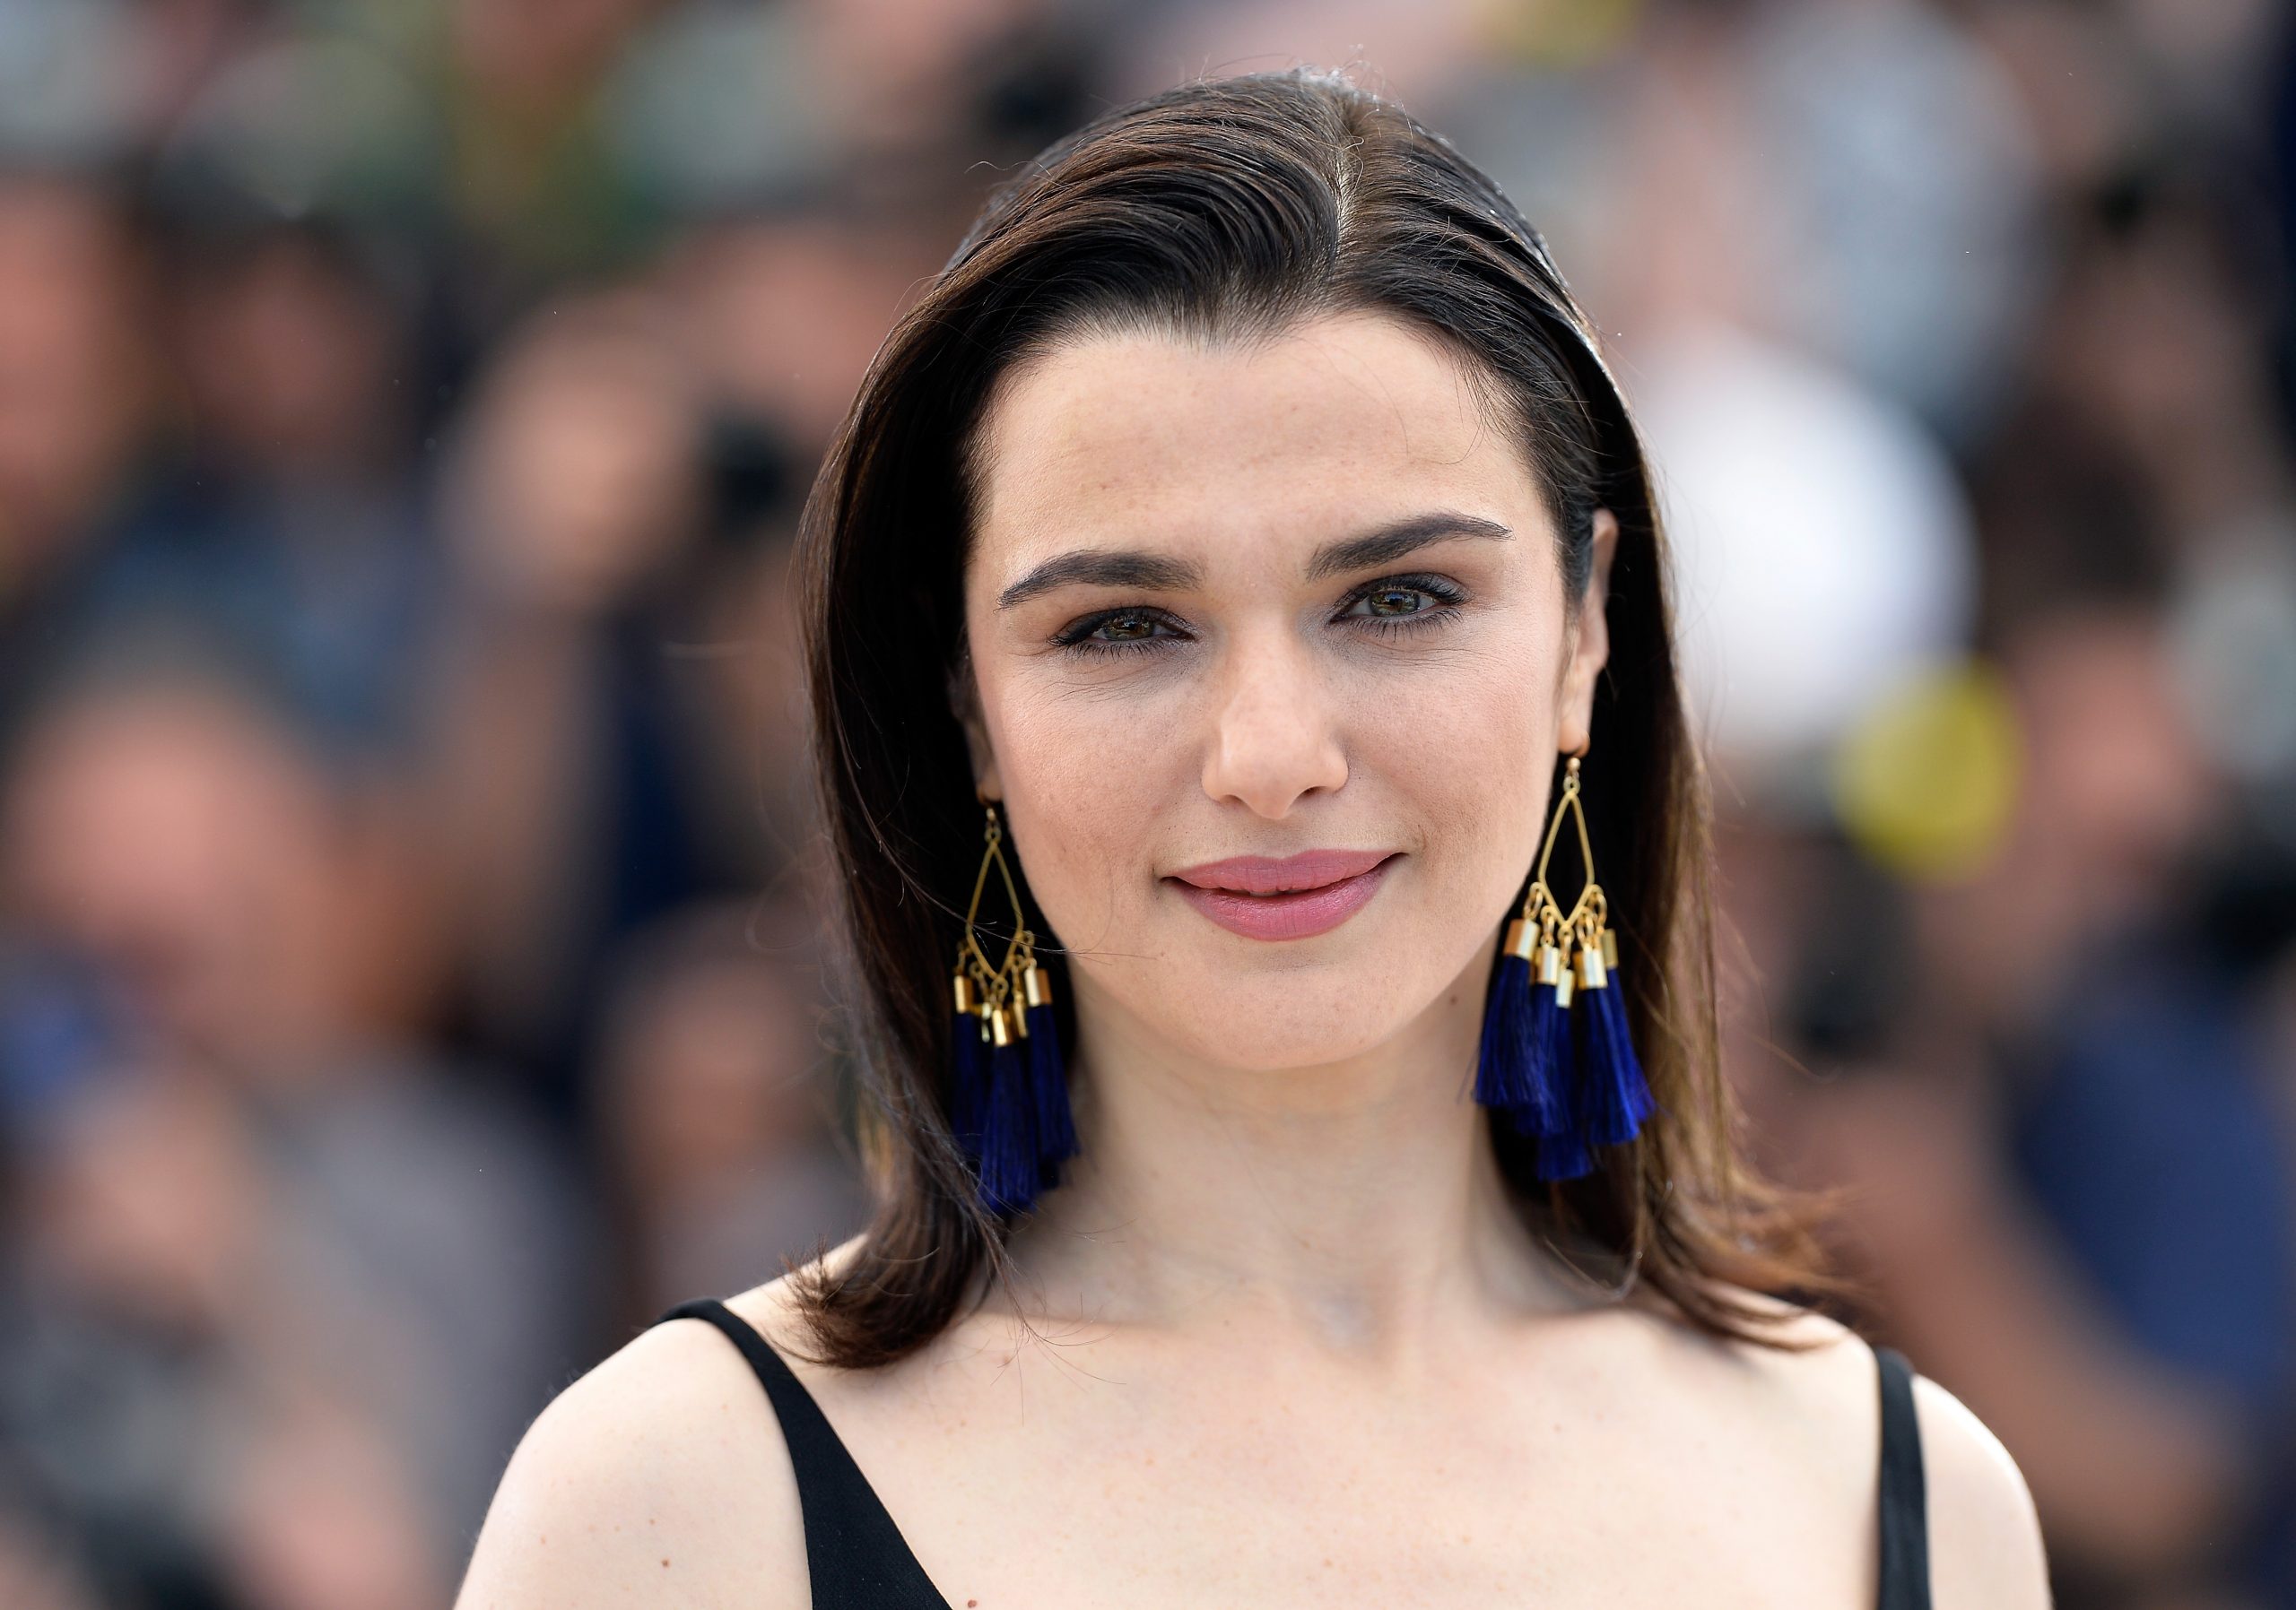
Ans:
{"type": "MultiPolygon", "coordinates": [[[[728,1307],[778,1342],[794,1312],[785,1284],[728,1307]]],[[[744,1610],[810,1601],[781,1422],[735,1344],[700,1319],[641,1330],[544,1406],[494,1491],[455,1610],[673,1596],[744,1610]]]]}

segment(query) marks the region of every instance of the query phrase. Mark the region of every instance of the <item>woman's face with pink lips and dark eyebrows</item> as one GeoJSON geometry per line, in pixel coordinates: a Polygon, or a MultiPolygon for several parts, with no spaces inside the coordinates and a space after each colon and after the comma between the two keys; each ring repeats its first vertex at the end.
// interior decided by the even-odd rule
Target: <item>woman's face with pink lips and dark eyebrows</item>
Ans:
{"type": "Polygon", "coordinates": [[[1589,738],[1609,511],[1570,631],[1522,450],[1384,314],[1091,337],[983,431],[960,713],[1086,1041],[1279,1069],[1479,1002],[1589,738]]]}

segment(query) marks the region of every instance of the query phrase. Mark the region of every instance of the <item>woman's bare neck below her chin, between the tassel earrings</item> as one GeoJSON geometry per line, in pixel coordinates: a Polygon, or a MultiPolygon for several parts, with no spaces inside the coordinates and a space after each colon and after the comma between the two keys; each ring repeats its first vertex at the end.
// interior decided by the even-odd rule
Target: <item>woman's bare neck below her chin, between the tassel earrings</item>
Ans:
{"type": "Polygon", "coordinates": [[[1013,1243],[1049,1314],[1249,1326],[1396,1355],[1479,1319],[1589,1307],[1522,1222],[1474,1101],[1488,952],[1339,1062],[1187,1055],[1077,988],[1081,1154],[1013,1243]]]}

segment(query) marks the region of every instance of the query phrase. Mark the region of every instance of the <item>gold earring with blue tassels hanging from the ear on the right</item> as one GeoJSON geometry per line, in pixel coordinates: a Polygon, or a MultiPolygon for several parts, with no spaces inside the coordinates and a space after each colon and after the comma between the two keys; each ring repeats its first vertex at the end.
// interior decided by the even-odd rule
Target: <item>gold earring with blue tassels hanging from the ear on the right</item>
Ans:
{"type": "Polygon", "coordinates": [[[1538,1179],[1591,1174],[1593,1147],[1632,1140],[1658,1112],[1628,1037],[1626,1002],[1612,982],[1619,938],[1609,929],[1603,885],[1593,881],[1577,771],[1580,757],[1573,755],[1538,851],[1538,874],[1522,897],[1522,913],[1506,924],[1474,1073],[1474,1099],[1538,1142],[1538,1179]],[[1568,913],[1548,888],[1548,858],[1564,810],[1577,816],[1587,867],[1587,888],[1568,913]]]}

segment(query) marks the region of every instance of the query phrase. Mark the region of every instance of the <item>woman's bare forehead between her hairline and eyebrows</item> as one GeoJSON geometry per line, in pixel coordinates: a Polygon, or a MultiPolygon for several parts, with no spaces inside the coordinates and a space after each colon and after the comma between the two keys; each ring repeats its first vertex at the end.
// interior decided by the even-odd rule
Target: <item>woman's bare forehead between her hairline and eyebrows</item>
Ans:
{"type": "Polygon", "coordinates": [[[1270,342],[1093,335],[1013,369],[983,422],[980,550],[1295,534],[1426,507],[1525,511],[1536,482],[1467,360],[1387,314],[1270,342]]]}

